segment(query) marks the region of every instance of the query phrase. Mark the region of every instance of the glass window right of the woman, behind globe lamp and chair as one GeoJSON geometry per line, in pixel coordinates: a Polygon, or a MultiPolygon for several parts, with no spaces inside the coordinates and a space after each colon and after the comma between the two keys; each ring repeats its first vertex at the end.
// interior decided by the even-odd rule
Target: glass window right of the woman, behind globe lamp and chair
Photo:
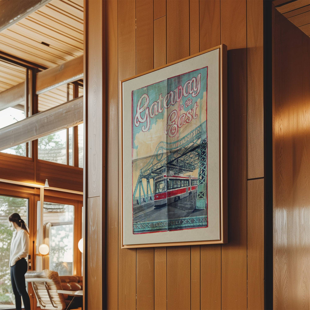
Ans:
{"type": "Polygon", "coordinates": [[[74,206],[44,202],[43,237],[49,245],[49,269],[60,276],[73,274],[74,206]]]}

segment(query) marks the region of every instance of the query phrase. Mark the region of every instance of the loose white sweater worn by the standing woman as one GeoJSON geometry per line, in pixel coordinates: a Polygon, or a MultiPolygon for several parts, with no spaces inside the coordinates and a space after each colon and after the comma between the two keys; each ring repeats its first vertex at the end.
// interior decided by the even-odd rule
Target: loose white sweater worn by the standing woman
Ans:
{"type": "Polygon", "coordinates": [[[10,252],[10,267],[14,266],[15,263],[26,258],[29,253],[29,235],[24,229],[13,232],[10,252]]]}

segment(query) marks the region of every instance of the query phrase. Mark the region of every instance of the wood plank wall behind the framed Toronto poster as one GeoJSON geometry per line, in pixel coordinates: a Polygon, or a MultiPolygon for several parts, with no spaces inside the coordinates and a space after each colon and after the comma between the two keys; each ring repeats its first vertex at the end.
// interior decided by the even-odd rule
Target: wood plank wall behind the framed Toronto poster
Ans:
{"type": "Polygon", "coordinates": [[[106,307],[263,309],[263,1],[105,5],[106,307]],[[229,242],[121,249],[119,81],[221,43],[228,46],[229,242]]]}

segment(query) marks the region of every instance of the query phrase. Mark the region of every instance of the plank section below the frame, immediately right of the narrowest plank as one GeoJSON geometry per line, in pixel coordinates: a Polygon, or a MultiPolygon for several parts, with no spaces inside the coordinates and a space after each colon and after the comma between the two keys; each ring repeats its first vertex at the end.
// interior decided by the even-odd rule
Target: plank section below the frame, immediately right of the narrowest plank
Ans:
{"type": "Polygon", "coordinates": [[[201,309],[221,309],[221,246],[204,245],[200,252],[201,309]]]}

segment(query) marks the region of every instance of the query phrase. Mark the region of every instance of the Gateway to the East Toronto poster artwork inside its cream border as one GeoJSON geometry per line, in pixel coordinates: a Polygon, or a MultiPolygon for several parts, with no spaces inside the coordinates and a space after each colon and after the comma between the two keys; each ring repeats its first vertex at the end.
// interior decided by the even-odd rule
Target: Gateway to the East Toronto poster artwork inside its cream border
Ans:
{"type": "Polygon", "coordinates": [[[208,67],[132,91],[133,234],[208,227],[208,67]]]}

